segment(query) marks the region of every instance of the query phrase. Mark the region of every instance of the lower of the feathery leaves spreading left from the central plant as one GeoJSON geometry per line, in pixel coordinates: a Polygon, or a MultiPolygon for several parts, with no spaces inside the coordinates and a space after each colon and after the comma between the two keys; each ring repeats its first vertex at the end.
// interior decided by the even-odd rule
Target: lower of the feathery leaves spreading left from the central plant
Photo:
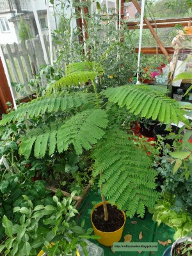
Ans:
{"type": "Polygon", "coordinates": [[[69,118],[65,124],[45,125],[41,129],[33,129],[22,138],[19,154],[29,158],[35,143],[35,157],[44,157],[49,143],[49,155],[57,147],[58,152],[67,150],[68,145],[74,144],[77,154],[82,154],[83,148],[89,150],[104,135],[108,125],[106,112],[101,109],[82,111],[69,118]]]}

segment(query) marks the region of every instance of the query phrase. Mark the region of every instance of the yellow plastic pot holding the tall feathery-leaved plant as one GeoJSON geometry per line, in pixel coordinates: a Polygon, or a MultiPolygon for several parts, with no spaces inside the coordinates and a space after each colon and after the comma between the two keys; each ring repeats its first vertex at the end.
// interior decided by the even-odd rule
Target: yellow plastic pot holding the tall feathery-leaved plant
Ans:
{"type": "MultiPolygon", "coordinates": [[[[109,204],[109,202],[107,202],[107,204],[109,204]]],[[[100,205],[103,205],[103,203],[97,204],[95,206],[95,208],[99,207],[100,205]]],[[[123,211],[122,211],[122,213],[124,214],[124,225],[122,225],[121,228],[119,228],[118,230],[113,231],[113,232],[102,232],[102,231],[98,230],[94,226],[93,221],[92,221],[92,226],[93,226],[93,231],[94,231],[95,236],[101,237],[100,239],[97,240],[100,244],[103,244],[105,246],[113,246],[114,242],[120,241],[120,239],[122,237],[123,230],[124,230],[124,226],[125,226],[125,220],[126,220],[125,213],[123,211]]],[[[92,214],[93,214],[93,210],[91,212],[91,220],[92,220],[92,214]]]]}

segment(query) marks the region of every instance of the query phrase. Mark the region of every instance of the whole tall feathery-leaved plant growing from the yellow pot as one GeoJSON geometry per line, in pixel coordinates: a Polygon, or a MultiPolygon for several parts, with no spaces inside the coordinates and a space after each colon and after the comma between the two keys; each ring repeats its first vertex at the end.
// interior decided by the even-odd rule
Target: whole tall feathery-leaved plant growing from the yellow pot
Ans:
{"type": "MultiPolygon", "coordinates": [[[[93,177],[98,177],[106,221],[107,214],[110,215],[106,199],[129,217],[134,214],[143,217],[145,207],[152,207],[159,198],[155,182],[157,172],[151,168],[152,156],[147,156],[142,148],[137,147],[134,136],[127,136],[122,122],[118,120],[120,116],[125,120],[132,114],[158,119],[166,124],[180,120],[188,124],[188,120],[177,102],[166,97],[156,86],[131,84],[107,88],[99,93],[95,77],[102,74],[102,67],[98,63],[68,65],[66,76],[49,86],[47,95],[20,106],[6,115],[1,124],[12,120],[15,122],[22,116],[28,120],[45,112],[61,115],[60,122],[53,124],[52,119],[47,118],[42,129],[36,130],[34,127],[26,131],[20,138],[19,154],[28,159],[31,154],[43,157],[49,151],[52,156],[55,151],[63,152],[71,145],[77,155],[92,150],[95,162],[93,177]],[[92,81],[90,86],[95,97],[93,93],[73,92],[75,86],[80,87],[81,83],[87,81],[92,81]],[[66,92],[68,87],[70,92],[66,92]],[[61,92],[63,89],[64,92],[61,92]],[[166,115],[166,111],[172,115],[166,115]]],[[[124,218],[123,214],[122,226],[124,218]]]]}

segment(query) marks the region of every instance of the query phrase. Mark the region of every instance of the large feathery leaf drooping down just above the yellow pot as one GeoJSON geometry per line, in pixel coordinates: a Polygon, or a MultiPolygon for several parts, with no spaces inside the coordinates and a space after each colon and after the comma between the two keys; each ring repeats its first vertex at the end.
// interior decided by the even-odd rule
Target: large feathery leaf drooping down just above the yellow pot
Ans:
{"type": "Polygon", "coordinates": [[[132,218],[135,213],[143,217],[145,206],[152,207],[159,194],[155,191],[156,171],[150,158],[138,148],[126,132],[114,129],[97,143],[93,176],[100,173],[99,187],[109,198],[132,218]]]}

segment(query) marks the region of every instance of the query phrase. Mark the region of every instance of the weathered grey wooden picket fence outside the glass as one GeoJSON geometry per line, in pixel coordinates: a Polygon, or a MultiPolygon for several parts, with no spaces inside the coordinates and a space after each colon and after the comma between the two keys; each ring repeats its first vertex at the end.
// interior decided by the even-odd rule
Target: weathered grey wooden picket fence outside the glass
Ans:
{"type": "MultiPolygon", "coordinates": [[[[48,36],[44,35],[44,42],[49,58],[50,49],[48,36]]],[[[1,47],[11,82],[24,84],[24,89],[27,93],[30,93],[34,88],[28,85],[29,80],[34,78],[35,74],[38,73],[38,67],[45,64],[40,38],[37,36],[36,38],[26,40],[26,42],[21,42],[20,44],[6,44],[1,45],[1,47]]],[[[57,47],[58,45],[52,45],[54,60],[57,60],[57,47]]],[[[49,63],[50,62],[49,60],[49,63]]],[[[13,94],[15,99],[20,99],[24,96],[22,92],[16,92],[14,87],[13,94]]]]}

